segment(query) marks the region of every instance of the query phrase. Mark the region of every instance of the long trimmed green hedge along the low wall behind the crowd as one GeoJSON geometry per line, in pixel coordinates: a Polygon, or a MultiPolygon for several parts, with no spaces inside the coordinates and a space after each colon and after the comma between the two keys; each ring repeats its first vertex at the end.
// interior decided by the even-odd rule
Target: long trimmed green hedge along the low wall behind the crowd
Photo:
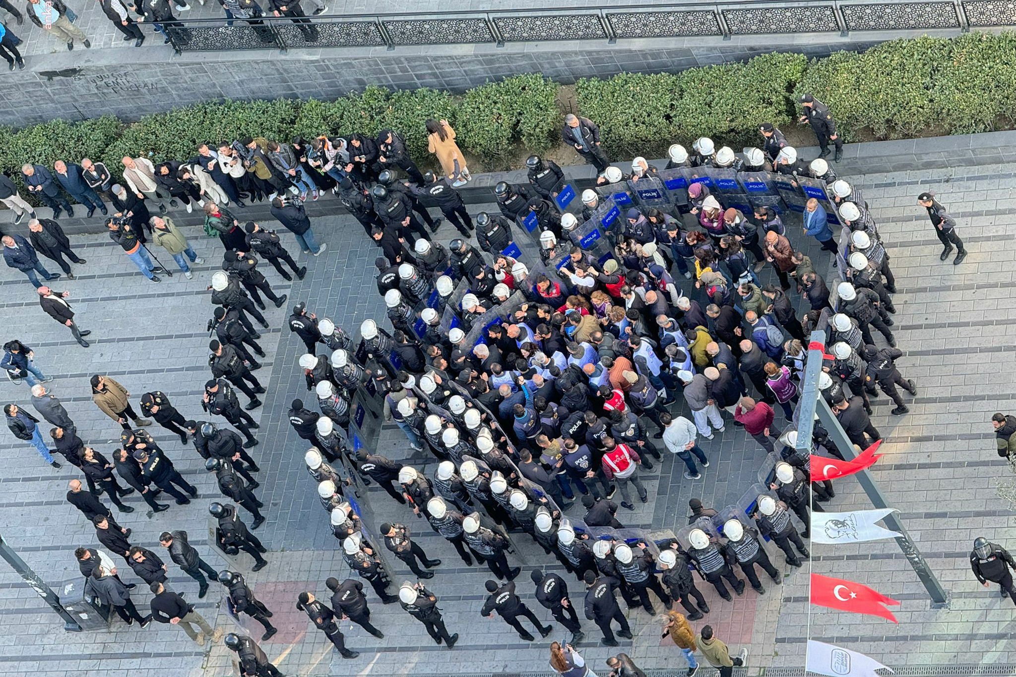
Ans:
{"type": "MultiPolygon", "coordinates": [[[[84,156],[117,171],[123,155],[189,157],[204,141],[375,135],[385,128],[397,130],[418,161],[432,166],[428,118],[448,120],[467,155],[484,168],[501,170],[520,147],[544,152],[558,143],[559,89],[542,75],[519,75],[463,94],[371,86],[330,101],[197,104],[130,124],[104,117],[20,130],[0,127],[0,171],[19,178],[26,161],[52,166],[56,159],[84,156]]],[[[671,143],[690,145],[699,136],[736,149],[756,144],[758,123],[795,124],[797,100],[805,91],[829,105],[848,141],[1011,128],[1016,126],[1016,33],[899,40],[811,61],[774,53],[743,64],[623,73],[575,84],[579,112],[599,125],[615,158],[661,157],[671,143]]]]}

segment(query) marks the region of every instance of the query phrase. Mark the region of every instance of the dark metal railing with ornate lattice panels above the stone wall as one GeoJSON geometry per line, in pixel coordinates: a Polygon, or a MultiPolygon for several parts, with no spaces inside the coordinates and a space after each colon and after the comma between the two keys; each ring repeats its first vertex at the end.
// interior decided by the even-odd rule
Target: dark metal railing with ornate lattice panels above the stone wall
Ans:
{"type": "Polygon", "coordinates": [[[495,45],[582,40],[914,30],[1016,25],[1008,0],[731,0],[516,10],[180,19],[178,53],[194,51],[495,45]]]}

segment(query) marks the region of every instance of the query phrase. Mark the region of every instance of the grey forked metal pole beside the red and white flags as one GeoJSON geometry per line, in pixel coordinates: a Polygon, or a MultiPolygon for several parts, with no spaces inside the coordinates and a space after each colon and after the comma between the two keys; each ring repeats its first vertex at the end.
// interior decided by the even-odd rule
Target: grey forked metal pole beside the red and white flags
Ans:
{"type": "MultiPolygon", "coordinates": [[[[843,430],[843,426],[839,424],[836,415],[829,408],[829,404],[819,391],[819,374],[822,371],[825,341],[825,332],[812,332],[811,343],[808,346],[808,362],[801,382],[802,397],[799,409],[797,449],[811,451],[812,432],[815,426],[814,414],[817,413],[819,420],[829,433],[829,439],[836,445],[836,449],[843,455],[843,459],[852,461],[858,457],[858,454],[853,451],[853,443],[846,436],[846,431],[843,430]]],[[[869,499],[875,507],[892,507],[889,501],[886,500],[879,485],[875,482],[875,478],[872,476],[870,470],[862,470],[855,473],[854,477],[858,478],[861,487],[868,494],[869,499]]],[[[920,580],[920,583],[928,591],[928,595],[932,600],[932,608],[942,609],[947,607],[949,605],[949,597],[946,591],[943,590],[942,585],[928,565],[924,555],[920,554],[920,550],[917,549],[916,544],[910,538],[910,534],[906,531],[906,527],[903,526],[902,521],[900,521],[898,513],[890,513],[883,519],[883,522],[891,531],[900,534],[896,538],[896,543],[899,545],[900,550],[903,551],[903,555],[907,561],[910,562],[910,566],[913,567],[917,579],[920,580]]]]}

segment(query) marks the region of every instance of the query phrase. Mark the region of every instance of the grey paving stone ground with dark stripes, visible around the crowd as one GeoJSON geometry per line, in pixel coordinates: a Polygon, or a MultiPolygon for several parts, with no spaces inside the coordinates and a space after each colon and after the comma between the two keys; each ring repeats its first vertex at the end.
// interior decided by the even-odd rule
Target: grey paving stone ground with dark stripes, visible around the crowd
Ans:
{"type": "MultiPolygon", "coordinates": [[[[861,616],[809,609],[807,569],[789,572],[781,590],[768,586],[769,594],[764,597],[748,591],[733,604],[715,600],[715,593],[703,586],[713,608],[708,622],[732,648],[751,649],[750,674],[758,674],[768,666],[803,664],[803,637],[809,613],[815,638],[864,651],[892,666],[977,663],[989,659],[996,663],[1014,662],[1008,655],[1011,647],[1007,619],[1011,610],[1000,606],[995,591],[976,586],[964,560],[974,532],[1005,545],[1003,529],[1012,526],[1013,515],[1012,506],[995,497],[994,481],[989,475],[1008,474],[1006,464],[993,453],[993,435],[987,421],[991,412],[1007,410],[1012,399],[1004,386],[1009,370],[1005,367],[1010,365],[1006,360],[1010,345],[1004,340],[1004,332],[1007,325],[1016,321],[1016,314],[1006,302],[1013,272],[1005,262],[1011,255],[1007,256],[1002,248],[992,247],[996,241],[1016,238],[1013,219],[1004,213],[1002,202],[1011,197],[1016,180],[1008,175],[992,179],[998,168],[856,178],[890,244],[900,287],[896,298],[896,330],[900,346],[907,352],[901,367],[904,375],[917,380],[920,389],[911,413],[902,419],[890,421],[886,398],[877,401],[875,421],[887,438],[883,445],[887,456],[875,471],[876,477],[890,501],[901,510],[933,568],[953,592],[952,607],[949,611],[928,611],[927,601],[918,595],[919,585],[892,542],[853,548],[840,546],[843,549],[835,551],[821,546],[814,566],[816,571],[867,583],[902,600],[898,626],[878,619],[873,622],[861,616]],[[964,175],[971,178],[964,180],[964,175]],[[970,251],[959,269],[938,261],[938,241],[929,231],[923,212],[913,204],[913,195],[928,187],[936,188],[959,216],[960,231],[970,251]],[[969,302],[970,294],[975,294],[979,301],[975,307],[969,302]],[[970,353],[968,348],[978,350],[970,353]],[[957,499],[946,493],[952,488],[965,490],[963,504],[957,505],[961,511],[951,511],[948,504],[943,504],[944,500],[957,499]],[[889,637],[887,644],[880,644],[884,636],[889,637]]],[[[470,210],[475,213],[482,206],[470,206],[470,210]]],[[[359,224],[345,216],[325,216],[315,219],[315,231],[328,244],[328,251],[320,258],[306,259],[309,273],[305,280],[275,284],[279,282],[276,273],[266,271],[276,290],[291,295],[287,308],[295,299],[305,299],[319,316],[331,317],[351,330],[366,317],[382,317],[383,303],[372,279],[376,250],[366,242],[359,224]]],[[[5,337],[16,335],[37,349],[39,364],[57,377],[49,384],[54,394],[65,402],[82,438],[100,451],[110,452],[115,448],[119,428],[90,402],[87,377],[92,373],[113,375],[134,393],[135,400],[145,390],[160,389],[173,398],[185,415],[202,415],[198,398],[207,378],[207,334],[203,330],[210,312],[204,287],[210,271],[217,268],[220,248],[217,241],[204,238],[200,228],[188,226],[186,232],[206,263],[197,267],[193,280],[176,275],[160,285],[145,281],[104,235],[73,238],[75,243],[84,244],[81,254],[88,259],[86,267],[76,269],[89,274],[79,275],[73,281],[61,280],[55,288],[71,291],[81,325],[93,331],[89,338],[97,341],[88,350],[79,348],[65,330],[42,313],[30,285],[20,273],[0,268],[0,287],[7,292],[0,303],[5,337]]],[[[447,241],[452,234],[446,225],[439,240],[447,241]]],[[[295,247],[288,233],[283,241],[295,247]]],[[[804,238],[796,238],[795,242],[816,263],[826,263],[815,243],[804,238]]],[[[768,271],[764,272],[763,281],[770,281],[770,276],[768,271]]],[[[302,460],[305,445],[279,415],[290,399],[306,389],[295,364],[302,352],[302,342],[287,329],[277,329],[284,315],[282,310],[274,309],[266,314],[274,329],[264,334],[262,345],[268,354],[264,368],[257,376],[268,393],[262,398],[264,406],[254,412],[262,425],[258,430],[262,444],[254,450],[263,469],[260,477],[263,484],[257,493],[266,502],[266,513],[270,516],[258,536],[270,550],[271,565],[251,573],[248,581],[275,612],[273,620],[280,629],[275,637],[264,642],[265,651],[287,674],[546,673],[545,642],[524,642],[515,638],[502,621],[479,616],[482,586],[488,578],[486,569],[464,566],[447,543],[376,487],[368,492],[370,521],[394,520],[407,524],[419,534],[427,552],[444,560],[438,576],[430,583],[442,599],[448,627],[462,636],[460,645],[451,652],[436,647],[397,605],[382,606],[369,593],[374,622],[386,632],[386,637],[375,639],[343,622],[347,645],[362,652],[359,659],[344,661],[334,655],[324,636],[295,610],[299,592],[306,589],[324,593],[324,579],[329,576],[342,579],[348,571],[335,549],[327,516],[306,474],[302,460]]],[[[0,383],[0,393],[5,401],[27,399],[23,386],[0,383]]],[[[174,505],[167,513],[150,518],[138,510],[122,516],[121,522],[134,528],[133,542],[156,551],[161,531],[187,529],[197,547],[207,554],[205,506],[218,496],[213,479],[205,473],[192,449],[183,449],[178,439],[163,434],[158,427],[150,429],[165,443],[188,480],[198,487],[201,499],[187,506],[174,505]]],[[[411,459],[427,473],[434,468],[434,461],[411,455],[404,435],[394,426],[383,428],[378,444],[381,452],[393,459],[411,459]]],[[[714,441],[703,442],[713,463],[703,480],[697,482],[684,480],[681,468],[672,459],[664,459],[661,470],[645,478],[650,494],[648,503],[638,504],[634,513],[622,511],[621,520],[629,526],[676,528],[685,524],[685,506],[691,497],[702,498],[717,507],[732,502],[755,478],[762,459],[761,451],[755,447],[733,425],[714,441]]],[[[0,485],[7,489],[0,499],[4,537],[55,588],[64,581],[78,580],[71,551],[78,544],[92,545],[94,536],[92,528],[63,499],[66,481],[77,471],[67,466],[60,471],[51,470],[41,463],[34,450],[8,434],[0,435],[0,461],[7,469],[0,476],[0,485]],[[25,528],[29,524],[31,527],[25,528]]],[[[837,482],[837,492],[835,507],[864,505],[854,480],[837,482]]],[[[134,496],[127,501],[135,506],[142,504],[134,496]]],[[[574,509],[571,513],[580,515],[574,509]]],[[[524,539],[517,541],[518,563],[526,569],[548,561],[531,543],[524,539]]],[[[227,564],[215,556],[208,559],[214,566],[227,564]]],[[[775,562],[784,567],[781,557],[776,556],[775,562]]],[[[544,568],[560,570],[556,564],[544,568]]],[[[401,566],[395,571],[397,581],[408,577],[401,566]]],[[[202,615],[217,627],[236,626],[220,604],[220,590],[212,588],[208,597],[197,600],[195,584],[181,576],[175,566],[172,572],[174,588],[186,591],[202,615]]],[[[128,580],[134,579],[130,572],[126,576],[128,580]]],[[[580,599],[580,586],[574,579],[565,578],[572,596],[580,599]]],[[[532,600],[530,589],[524,572],[519,578],[520,593],[546,622],[550,616],[532,600]]],[[[143,609],[149,595],[138,592],[135,597],[143,609]]],[[[140,630],[116,620],[110,632],[54,635],[55,616],[43,608],[34,592],[7,567],[0,567],[0,609],[3,611],[0,628],[4,630],[0,632],[0,663],[16,673],[50,677],[102,669],[111,675],[129,671],[142,677],[198,674],[211,677],[231,674],[233,670],[230,652],[221,647],[198,648],[171,626],[155,624],[140,630]]],[[[659,625],[654,619],[641,611],[631,611],[628,615],[636,638],[634,642],[624,642],[623,651],[648,669],[682,664],[674,647],[660,645],[659,625]]],[[[249,629],[252,636],[259,636],[260,625],[246,621],[242,627],[249,629]]],[[[596,636],[591,623],[586,629],[591,637],[596,636]]],[[[558,632],[553,636],[557,637],[558,632]]],[[[602,669],[602,660],[610,655],[605,648],[589,641],[581,649],[594,666],[602,669]]]]}

